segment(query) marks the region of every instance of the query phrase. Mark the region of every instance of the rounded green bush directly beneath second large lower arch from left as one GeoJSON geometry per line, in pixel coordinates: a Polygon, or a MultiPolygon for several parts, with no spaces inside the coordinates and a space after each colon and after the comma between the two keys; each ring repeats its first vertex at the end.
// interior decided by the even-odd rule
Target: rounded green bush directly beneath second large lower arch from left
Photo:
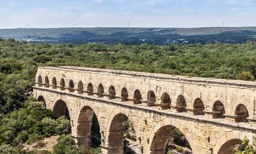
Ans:
{"type": "Polygon", "coordinates": [[[70,124],[70,120],[68,120],[67,117],[65,116],[59,117],[56,120],[56,123],[57,123],[57,126],[55,127],[55,132],[58,135],[70,134],[71,124],[70,124]]]}

